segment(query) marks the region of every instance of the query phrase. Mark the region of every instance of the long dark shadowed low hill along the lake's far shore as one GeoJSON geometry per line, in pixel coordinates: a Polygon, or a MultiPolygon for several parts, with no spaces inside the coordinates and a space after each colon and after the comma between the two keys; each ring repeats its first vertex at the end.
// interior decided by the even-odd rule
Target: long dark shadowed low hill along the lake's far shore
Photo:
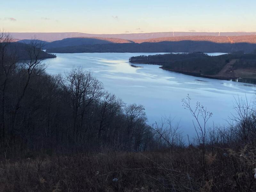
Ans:
{"type": "Polygon", "coordinates": [[[250,43],[214,43],[209,41],[164,41],[159,43],[124,43],[79,45],[47,49],[52,53],[79,52],[253,52],[256,44],[250,43]]]}

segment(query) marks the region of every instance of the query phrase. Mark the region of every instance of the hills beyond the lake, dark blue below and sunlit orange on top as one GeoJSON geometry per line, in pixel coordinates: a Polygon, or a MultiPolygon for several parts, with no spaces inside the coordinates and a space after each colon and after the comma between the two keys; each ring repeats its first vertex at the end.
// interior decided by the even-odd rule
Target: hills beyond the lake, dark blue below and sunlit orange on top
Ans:
{"type": "MultiPolygon", "coordinates": [[[[235,34],[233,34],[235,35],[235,34]]],[[[31,40],[16,40],[29,44],[31,40]]],[[[70,37],[41,41],[46,52],[254,52],[256,35],[243,36],[168,36],[148,39],[113,37],[70,37]]]]}

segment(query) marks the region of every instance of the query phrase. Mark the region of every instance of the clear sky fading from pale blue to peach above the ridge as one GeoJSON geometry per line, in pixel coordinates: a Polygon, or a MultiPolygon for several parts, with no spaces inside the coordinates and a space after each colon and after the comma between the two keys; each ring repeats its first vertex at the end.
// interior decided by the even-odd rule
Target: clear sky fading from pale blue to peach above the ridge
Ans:
{"type": "Polygon", "coordinates": [[[256,32],[255,0],[1,0],[7,32],[256,32]]]}

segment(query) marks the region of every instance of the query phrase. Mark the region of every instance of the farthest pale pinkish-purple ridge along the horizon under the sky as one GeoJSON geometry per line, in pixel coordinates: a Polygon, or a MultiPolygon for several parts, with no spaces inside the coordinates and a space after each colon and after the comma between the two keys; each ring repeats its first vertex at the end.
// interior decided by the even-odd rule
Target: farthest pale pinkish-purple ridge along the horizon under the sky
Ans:
{"type": "Polygon", "coordinates": [[[127,40],[152,39],[162,37],[178,36],[246,36],[256,35],[256,32],[155,32],[155,33],[129,33],[129,34],[88,34],[78,32],[63,33],[11,33],[15,39],[31,39],[36,36],[37,39],[44,41],[56,41],[72,37],[102,37],[119,38],[127,40]]]}

